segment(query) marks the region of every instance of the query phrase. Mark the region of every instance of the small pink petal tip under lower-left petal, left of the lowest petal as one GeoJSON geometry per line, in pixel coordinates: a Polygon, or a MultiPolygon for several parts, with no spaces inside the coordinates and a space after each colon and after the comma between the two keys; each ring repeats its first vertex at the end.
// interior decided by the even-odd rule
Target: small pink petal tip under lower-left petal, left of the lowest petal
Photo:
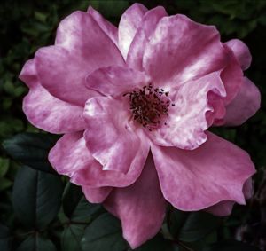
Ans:
{"type": "Polygon", "coordinates": [[[112,187],[91,188],[90,186],[82,185],[82,192],[90,203],[102,203],[112,190],[112,187]]]}

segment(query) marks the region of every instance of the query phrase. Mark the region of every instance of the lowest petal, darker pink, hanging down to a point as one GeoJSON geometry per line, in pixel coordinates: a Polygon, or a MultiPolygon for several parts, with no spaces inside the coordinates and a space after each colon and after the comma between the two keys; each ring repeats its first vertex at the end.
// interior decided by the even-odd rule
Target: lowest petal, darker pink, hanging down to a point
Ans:
{"type": "Polygon", "coordinates": [[[160,191],[153,158],[135,184],[114,189],[104,203],[105,208],[121,219],[123,236],[131,248],[137,248],[160,230],[166,201],[160,191]]]}

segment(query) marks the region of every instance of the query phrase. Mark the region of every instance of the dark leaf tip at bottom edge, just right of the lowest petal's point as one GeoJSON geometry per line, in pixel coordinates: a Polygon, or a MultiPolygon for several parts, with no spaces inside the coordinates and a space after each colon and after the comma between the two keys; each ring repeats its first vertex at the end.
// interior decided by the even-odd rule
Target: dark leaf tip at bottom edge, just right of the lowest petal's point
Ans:
{"type": "MultiPolygon", "coordinates": [[[[153,239],[148,240],[144,245],[134,249],[135,251],[177,251],[173,243],[162,236],[157,235],[153,239]]],[[[129,249],[132,250],[132,249],[129,249]]]]}

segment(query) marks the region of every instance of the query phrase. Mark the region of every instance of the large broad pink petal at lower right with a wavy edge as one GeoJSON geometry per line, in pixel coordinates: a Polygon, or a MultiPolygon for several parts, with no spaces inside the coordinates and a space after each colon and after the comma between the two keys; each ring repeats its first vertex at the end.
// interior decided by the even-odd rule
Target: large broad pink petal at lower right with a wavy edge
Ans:
{"type": "Polygon", "coordinates": [[[223,200],[245,204],[243,184],[255,172],[248,154],[207,133],[194,151],[152,145],[164,198],[184,211],[209,208],[223,200]]]}

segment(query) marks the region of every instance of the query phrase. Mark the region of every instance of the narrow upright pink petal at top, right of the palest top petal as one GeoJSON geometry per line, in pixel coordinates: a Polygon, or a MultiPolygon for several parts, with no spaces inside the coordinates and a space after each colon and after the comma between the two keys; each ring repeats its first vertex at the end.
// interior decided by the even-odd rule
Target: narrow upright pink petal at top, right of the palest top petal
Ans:
{"type": "Polygon", "coordinates": [[[145,44],[150,40],[160,19],[167,15],[168,13],[161,6],[145,12],[142,24],[138,27],[136,35],[129,47],[127,58],[129,67],[143,70],[142,61],[145,44]]]}

